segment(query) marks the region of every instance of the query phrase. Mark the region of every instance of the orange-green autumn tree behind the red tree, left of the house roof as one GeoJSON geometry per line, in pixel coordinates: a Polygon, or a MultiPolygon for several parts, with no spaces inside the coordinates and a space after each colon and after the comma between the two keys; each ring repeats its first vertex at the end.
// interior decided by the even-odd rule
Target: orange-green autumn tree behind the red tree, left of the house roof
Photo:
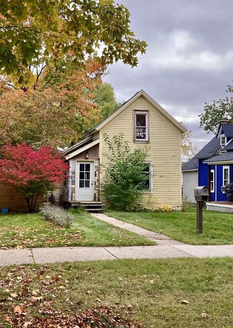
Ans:
{"type": "Polygon", "coordinates": [[[37,148],[57,148],[77,142],[101,120],[93,99],[103,70],[93,59],[82,70],[63,59],[54,67],[47,66],[26,91],[1,81],[0,146],[26,142],[37,148]]]}

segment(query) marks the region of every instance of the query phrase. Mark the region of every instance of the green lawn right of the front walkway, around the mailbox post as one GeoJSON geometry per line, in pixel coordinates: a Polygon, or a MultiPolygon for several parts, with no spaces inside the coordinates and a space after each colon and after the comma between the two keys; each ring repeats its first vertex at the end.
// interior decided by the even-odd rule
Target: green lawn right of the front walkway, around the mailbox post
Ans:
{"type": "Polygon", "coordinates": [[[106,211],[117,219],[133,223],[171,239],[193,245],[233,244],[233,214],[203,210],[203,234],[196,234],[196,208],[187,212],[106,211]]]}

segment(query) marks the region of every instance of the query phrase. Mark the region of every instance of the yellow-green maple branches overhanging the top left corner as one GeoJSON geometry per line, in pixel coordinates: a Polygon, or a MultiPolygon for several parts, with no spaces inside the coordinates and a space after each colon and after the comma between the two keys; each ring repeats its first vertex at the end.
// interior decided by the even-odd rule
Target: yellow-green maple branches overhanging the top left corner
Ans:
{"type": "Polygon", "coordinates": [[[146,46],[134,38],[129,10],[114,0],[0,1],[0,69],[19,85],[32,84],[35,65],[54,65],[69,52],[79,65],[94,55],[104,66],[136,66],[146,46]]]}

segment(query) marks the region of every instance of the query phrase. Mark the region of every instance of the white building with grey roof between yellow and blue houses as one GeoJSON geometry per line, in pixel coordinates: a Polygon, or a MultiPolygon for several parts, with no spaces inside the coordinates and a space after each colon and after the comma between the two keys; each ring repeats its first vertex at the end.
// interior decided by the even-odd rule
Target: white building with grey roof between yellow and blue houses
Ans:
{"type": "Polygon", "coordinates": [[[194,188],[198,187],[198,159],[193,158],[182,167],[183,199],[196,203],[194,188]]]}

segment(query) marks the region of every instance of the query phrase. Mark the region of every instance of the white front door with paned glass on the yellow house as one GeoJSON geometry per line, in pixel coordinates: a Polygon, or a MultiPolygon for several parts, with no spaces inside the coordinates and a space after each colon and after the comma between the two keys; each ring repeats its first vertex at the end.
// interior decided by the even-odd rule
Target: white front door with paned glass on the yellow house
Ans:
{"type": "Polygon", "coordinates": [[[75,200],[94,200],[94,163],[76,162],[75,200]]]}

